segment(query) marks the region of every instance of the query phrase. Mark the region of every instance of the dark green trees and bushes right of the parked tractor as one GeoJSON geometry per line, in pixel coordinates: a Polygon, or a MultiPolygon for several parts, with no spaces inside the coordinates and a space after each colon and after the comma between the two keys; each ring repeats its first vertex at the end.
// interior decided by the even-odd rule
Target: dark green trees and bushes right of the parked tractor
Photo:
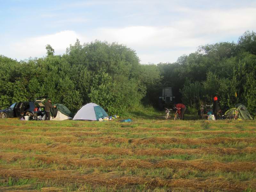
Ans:
{"type": "Polygon", "coordinates": [[[222,110],[243,103],[256,112],[256,34],[245,32],[237,43],[200,46],[175,63],[160,63],[162,84],[173,87],[180,102],[192,111],[212,103],[216,95],[222,110]],[[237,95],[237,96],[236,96],[237,95]]]}

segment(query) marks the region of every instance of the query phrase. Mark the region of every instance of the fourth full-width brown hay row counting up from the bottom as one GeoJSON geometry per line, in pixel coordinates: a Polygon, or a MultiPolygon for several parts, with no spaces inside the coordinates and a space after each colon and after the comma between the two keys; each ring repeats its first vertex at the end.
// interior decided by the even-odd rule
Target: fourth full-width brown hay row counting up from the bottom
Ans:
{"type": "Polygon", "coordinates": [[[225,143],[256,143],[256,137],[250,138],[228,138],[228,137],[216,137],[216,138],[175,138],[175,137],[147,137],[141,139],[132,139],[132,138],[116,138],[116,137],[76,137],[73,135],[68,136],[30,136],[30,135],[16,135],[16,136],[0,136],[0,140],[9,141],[9,140],[32,140],[34,142],[39,142],[40,140],[52,140],[60,143],[70,143],[70,142],[98,142],[102,144],[109,143],[132,143],[134,145],[150,145],[150,144],[187,144],[187,145],[197,145],[197,144],[208,144],[208,145],[217,145],[225,143]]]}

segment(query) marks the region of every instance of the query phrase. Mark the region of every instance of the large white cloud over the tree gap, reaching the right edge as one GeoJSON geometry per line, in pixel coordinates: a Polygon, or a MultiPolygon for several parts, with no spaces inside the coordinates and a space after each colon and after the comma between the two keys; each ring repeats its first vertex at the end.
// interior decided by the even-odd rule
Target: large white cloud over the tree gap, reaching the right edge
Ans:
{"type": "Polygon", "coordinates": [[[238,38],[256,28],[256,8],[182,11],[186,17],[167,26],[101,28],[93,38],[126,44],[138,52],[141,63],[158,63],[174,62],[199,45],[229,40],[230,36],[238,38]]]}

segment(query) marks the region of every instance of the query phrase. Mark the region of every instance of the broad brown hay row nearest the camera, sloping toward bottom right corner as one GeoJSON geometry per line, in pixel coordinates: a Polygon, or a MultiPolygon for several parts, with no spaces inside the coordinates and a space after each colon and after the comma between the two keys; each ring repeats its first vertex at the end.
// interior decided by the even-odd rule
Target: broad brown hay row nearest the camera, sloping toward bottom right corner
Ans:
{"type": "Polygon", "coordinates": [[[168,188],[187,188],[191,190],[224,190],[224,191],[243,191],[249,187],[256,187],[255,182],[248,181],[227,181],[225,178],[206,178],[203,179],[171,179],[139,177],[139,176],[120,176],[118,172],[99,173],[92,172],[83,174],[76,170],[52,171],[38,169],[20,169],[18,167],[0,166],[0,176],[4,178],[38,178],[39,180],[52,180],[55,183],[90,183],[93,185],[108,186],[135,186],[146,185],[150,187],[168,188]]]}

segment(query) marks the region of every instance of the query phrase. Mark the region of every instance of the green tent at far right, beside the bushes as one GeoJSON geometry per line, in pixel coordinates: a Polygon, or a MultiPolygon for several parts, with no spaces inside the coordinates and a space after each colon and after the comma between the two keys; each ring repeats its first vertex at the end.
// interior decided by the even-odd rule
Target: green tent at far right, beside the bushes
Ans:
{"type": "Polygon", "coordinates": [[[231,108],[231,109],[227,110],[224,115],[226,117],[235,118],[236,113],[237,113],[237,118],[238,119],[253,120],[253,118],[251,117],[251,115],[248,112],[247,108],[243,104],[241,104],[241,103],[236,104],[236,108],[231,108]]]}

